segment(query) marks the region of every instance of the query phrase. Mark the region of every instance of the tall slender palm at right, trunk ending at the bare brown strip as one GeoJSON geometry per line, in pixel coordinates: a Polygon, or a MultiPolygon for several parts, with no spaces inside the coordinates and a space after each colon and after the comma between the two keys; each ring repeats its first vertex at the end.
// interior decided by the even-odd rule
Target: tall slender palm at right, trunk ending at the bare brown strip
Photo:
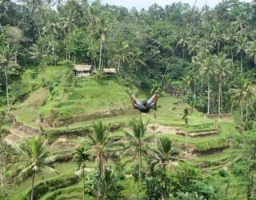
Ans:
{"type": "Polygon", "coordinates": [[[222,106],[222,83],[223,79],[227,75],[232,74],[230,71],[230,59],[226,59],[226,54],[223,52],[219,53],[218,56],[214,55],[217,64],[217,74],[218,74],[218,114],[221,114],[222,106]]]}

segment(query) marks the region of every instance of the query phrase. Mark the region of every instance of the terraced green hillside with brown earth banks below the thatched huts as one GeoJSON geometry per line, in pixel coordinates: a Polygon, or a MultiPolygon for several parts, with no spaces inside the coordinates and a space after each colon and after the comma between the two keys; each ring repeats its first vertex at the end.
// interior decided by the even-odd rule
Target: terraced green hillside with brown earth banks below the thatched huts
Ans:
{"type": "MultiPolygon", "coordinates": [[[[53,179],[56,182],[63,176],[74,177],[74,180],[77,180],[74,175],[77,167],[70,154],[87,141],[87,138],[84,141],[81,136],[86,137],[87,134],[90,134],[90,126],[96,120],[102,120],[106,124],[110,123],[111,137],[120,141],[125,139],[124,131],[127,130],[133,118],[142,117],[144,121],[149,120],[147,134],[154,134],[154,138],[162,136],[170,138],[174,148],[179,152],[178,157],[184,158],[186,126],[182,121],[182,110],[186,107],[190,108],[190,106],[183,102],[182,97],[175,98],[162,94],[158,100],[157,111],[151,110],[148,114],[139,114],[132,108],[129,95],[123,90],[118,79],[114,77],[102,82],[97,82],[94,77],[73,78],[72,82],[75,82],[75,86],[70,86],[66,90],[62,86],[62,82],[59,82],[58,86],[54,86],[51,91],[41,86],[42,78],[45,79],[45,82],[54,82],[58,79],[60,70],[70,69],[64,66],[46,67],[33,79],[29,77],[27,70],[24,71],[22,84],[29,85],[29,82],[33,82],[36,85],[36,90],[32,91],[24,102],[17,102],[12,106],[10,113],[14,115],[16,122],[10,128],[10,134],[6,136],[6,142],[10,144],[37,133],[43,133],[50,137],[48,150],[53,154],[58,154],[59,163],[54,166],[61,174],[46,174],[47,181],[50,182],[50,179],[53,179]],[[54,116],[55,124],[38,119],[40,115],[43,116],[42,118],[50,118],[53,110],[56,114],[54,116]]],[[[137,94],[140,93],[135,87],[134,91],[137,91],[137,94]]],[[[139,97],[145,98],[142,94],[139,97]]],[[[190,164],[202,166],[202,170],[209,170],[209,172],[222,167],[228,157],[223,150],[229,147],[228,137],[233,126],[234,122],[230,118],[212,120],[193,109],[189,116],[187,130],[190,164]],[[211,168],[213,166],[217,167],[211,168]]],[[[152,145],[154,145],[154,141],[152,145]]],[[[113,148],[117,149],[118,146],[113,148]]],[[[122,158],[124,161],[126,159],[126,157],[122,158]]],[[[130,164],[127,166],[125,174],[130,174],[133,169],[130,164]]],[[[110,162],[108,165],[112,165],[112,163],[110,162]]],[[[86,166],[90,171],[95,164],[88,162],[86,166]]],[[[42,179],[38,177],[36,187],[39,182],[42,182],[42,179]]],[[[121,184],[126,184],[126,182],[131,184],[132,179],[125,179],[121,184]]],[[[15,190],[15,194],[10,199],[17,199],[18,196],[25,197],[30,190],[30,179],[15,190]]],[[[81,190],[81,180],[77,180],[61,184],[51,190],[44,189],[44,193],[40,192],[40,196],[43,195],[42,199],[52,199],[54,195],[54,199],[61,199],[64,195],[75,199],[81,197],[81,190]]],[[[128,190],[131,188],[126,188],[124,193],[126,197],[132,195],[128,190]]]]}

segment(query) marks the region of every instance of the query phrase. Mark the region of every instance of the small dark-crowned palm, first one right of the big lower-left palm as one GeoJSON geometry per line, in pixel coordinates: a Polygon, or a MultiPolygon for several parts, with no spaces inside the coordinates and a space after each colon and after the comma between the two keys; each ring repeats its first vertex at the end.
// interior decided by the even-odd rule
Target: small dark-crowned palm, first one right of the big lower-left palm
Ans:
{"type": "Polygon", "coordinates": [[[85,167],[86,161],[89,160],[89,154],[86,154],[86,150],[84,147],[76,149],[74,152],[74,160],[78,163],[78,167],[82,170],[82,183],[83,183],[83,192],[82,199],[85,199],[85,191],[86,191],[86,180],[85,180],[85,167]]]}

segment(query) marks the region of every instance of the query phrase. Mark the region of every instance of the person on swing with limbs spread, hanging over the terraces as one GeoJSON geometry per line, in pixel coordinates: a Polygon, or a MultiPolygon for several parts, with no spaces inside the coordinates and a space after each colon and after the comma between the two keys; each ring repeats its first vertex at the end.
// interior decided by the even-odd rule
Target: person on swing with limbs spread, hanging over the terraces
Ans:
{"type": "Polygon", "coordinates": [[[140,110],[142,113],[147,113],[150,109],[156,106],[158,101],[158,94],[153,94],[150,99],[146,99],[143,102],[139,101],[138,98],[135,97],[134,94],[130,93],[130,100],[134,106],[134,109],[140,110]]]}

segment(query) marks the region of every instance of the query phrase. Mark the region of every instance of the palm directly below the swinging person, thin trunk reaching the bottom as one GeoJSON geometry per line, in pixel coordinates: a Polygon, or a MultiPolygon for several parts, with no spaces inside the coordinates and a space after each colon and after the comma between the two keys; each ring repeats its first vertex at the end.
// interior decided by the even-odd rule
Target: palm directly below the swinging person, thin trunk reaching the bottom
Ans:
{"type": "Polygon", "coordinates": [[[142,155],[146,155],[150,152],[150,149],[147,145],[147,142],[154,137],[154,135],[150,135],[146,137],[146,126],[149,121],[143,122],[142,118],[138,120],[133,120],[130,122],[130,126],[132,131],[126,132],[126,137],[129,140],[129,144],[126,146],[123,154],[132,154],[133,160],[137,158],[138,164],[138,190],[137,197],[140,191],[140,180],[141,180],[141,167],[142,167],[142,155]]]}

